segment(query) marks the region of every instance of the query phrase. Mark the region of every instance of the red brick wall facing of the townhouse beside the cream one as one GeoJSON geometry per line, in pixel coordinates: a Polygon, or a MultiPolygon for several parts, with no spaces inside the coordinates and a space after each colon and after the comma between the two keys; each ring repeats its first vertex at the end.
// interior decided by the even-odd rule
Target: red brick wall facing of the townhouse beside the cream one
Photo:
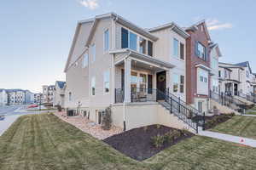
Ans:
{"type": "MultiPolygon", "coordinates": [[[[207,61],[197,57],[195,55],[195,42],[201,42],[209,53],[207,34],[205,31],[198,29],[197,31],[187,31],[190,35],[186,40],[186,100],[188,104],[194,104],[194,98],[196,95],[196,83],[197,83],[197,71],[195,65],[201,64],[210,67],[210,58],[207,54],[207,61]]],[[[208,77],[208,87],[210,88],[210,77],[208,77]]],[[[197,96],[205,97],[207,96],[197,96]]]]}

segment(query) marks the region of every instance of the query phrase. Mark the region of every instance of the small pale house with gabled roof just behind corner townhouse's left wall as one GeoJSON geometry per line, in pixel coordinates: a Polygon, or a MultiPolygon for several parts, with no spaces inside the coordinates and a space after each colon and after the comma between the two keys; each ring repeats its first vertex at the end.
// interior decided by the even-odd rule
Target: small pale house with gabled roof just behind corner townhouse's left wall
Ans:
{"type": "Polygon", "coordinates": [[[54,104],[64,107],[66,82],[56,81],[54,91],[54,104]]]}

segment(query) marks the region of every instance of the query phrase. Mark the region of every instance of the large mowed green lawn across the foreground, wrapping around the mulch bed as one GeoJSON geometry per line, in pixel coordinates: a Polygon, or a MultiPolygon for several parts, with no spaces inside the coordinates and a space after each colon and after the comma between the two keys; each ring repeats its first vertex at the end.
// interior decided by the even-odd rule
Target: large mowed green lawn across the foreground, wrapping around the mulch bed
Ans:
{"type": "Polygon", "coordinates": [[[0,137],[0,169],[256,169],[256,149],[195,136],[134,161],[52,114],[21,116],[0,137]]]}

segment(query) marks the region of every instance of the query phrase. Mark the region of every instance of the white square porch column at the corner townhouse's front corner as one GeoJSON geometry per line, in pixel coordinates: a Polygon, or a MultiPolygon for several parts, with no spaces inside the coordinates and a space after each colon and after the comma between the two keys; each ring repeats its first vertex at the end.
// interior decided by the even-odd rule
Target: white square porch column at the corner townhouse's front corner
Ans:
{"type": "Polygon", "coordinates": [[[125,59],[125,103],[131,102],[131,59],[125,59]]]}

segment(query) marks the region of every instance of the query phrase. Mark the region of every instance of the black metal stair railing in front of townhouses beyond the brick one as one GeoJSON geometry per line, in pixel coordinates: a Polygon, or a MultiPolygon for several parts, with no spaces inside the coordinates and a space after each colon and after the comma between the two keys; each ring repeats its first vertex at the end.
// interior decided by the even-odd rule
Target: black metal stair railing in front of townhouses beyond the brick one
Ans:
{"type": "Polygon", "coordinates": [[[220,105],[225,105],[230,107],[234,111],[242,113],[244,110],[247,110],[247,103],[236,99],[231,95],[224,93],[215,93],[210,91],[210,98],[218,102],[220,105]]]}

